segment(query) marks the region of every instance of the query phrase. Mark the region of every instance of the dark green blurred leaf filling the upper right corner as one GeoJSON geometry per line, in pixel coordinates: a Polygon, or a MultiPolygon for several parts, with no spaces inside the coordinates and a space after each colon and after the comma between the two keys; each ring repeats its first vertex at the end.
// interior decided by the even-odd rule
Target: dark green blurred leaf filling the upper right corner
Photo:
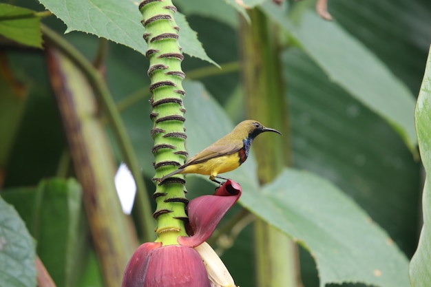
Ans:
{"type": "Polygon", "coordinates": [[[430,46],[431,1],[330,0],[328,9],[417,96],[430,46]]]}

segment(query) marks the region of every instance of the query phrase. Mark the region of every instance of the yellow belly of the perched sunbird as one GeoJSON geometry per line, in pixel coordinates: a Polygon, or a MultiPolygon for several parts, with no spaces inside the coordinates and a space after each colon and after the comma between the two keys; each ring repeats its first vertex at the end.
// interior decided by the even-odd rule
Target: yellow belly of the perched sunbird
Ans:
{"type": "Polygon", "coordinates": [[[191,164],[185,168],[182,173],[199,173],[204,176],[217,176],[218,173],[225,173],[233,171],[240,166],[240,158],[236,153],[230,154],[229,156],[220,156],[218,158],[211,158],[206,162],[198,164],[191,164]]]}

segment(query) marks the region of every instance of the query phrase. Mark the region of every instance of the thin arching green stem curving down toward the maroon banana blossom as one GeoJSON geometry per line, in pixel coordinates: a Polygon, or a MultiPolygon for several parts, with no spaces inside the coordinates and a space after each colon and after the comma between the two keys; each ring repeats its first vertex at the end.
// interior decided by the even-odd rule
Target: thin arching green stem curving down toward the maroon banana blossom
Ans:
{"type": "Polygon", "coordinates": [[[45,25],[41,25],[41,30],[45,35],[46,41],[49,41],[52,45],[59,48],[61,52],[67,55],[78,67],[83,71],[87,79],[90,81],[92,87],[98,96],[98,100],[103,104],[105,112],[109,118],[109,122],[112,125],[114,134],[118,146],[120,147],[121,153],[127,166],[129,167],[134,180],[136,182],[136,204],[138,206],[140,225],[143,230],[143,240],[150,241],[153,234],[154,222],[151,218],[150,204],[147,197],[147,190],[141,176],[140,167],[132,147],[132,143],[129,140],[127,131],[123,124],[123,121],[118,114],[114,100],[107,88],[105,81],[101,74],[92,66],[92,64],[85,59],[85,56],[78,52],[70,43],[65,41],[61,36],[56,34],[45,25]]]}

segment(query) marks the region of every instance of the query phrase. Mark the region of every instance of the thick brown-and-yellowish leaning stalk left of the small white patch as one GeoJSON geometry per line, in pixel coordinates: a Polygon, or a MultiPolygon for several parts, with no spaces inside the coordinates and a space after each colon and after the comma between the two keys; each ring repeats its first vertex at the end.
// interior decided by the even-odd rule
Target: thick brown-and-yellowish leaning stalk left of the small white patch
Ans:
{"type": "Polygon", "coordinates": [[[62,52],[49,45],[45,50],[104,286],[118,287],[138,240],[118,200],[112,150],[86,78],[62,52]]]}

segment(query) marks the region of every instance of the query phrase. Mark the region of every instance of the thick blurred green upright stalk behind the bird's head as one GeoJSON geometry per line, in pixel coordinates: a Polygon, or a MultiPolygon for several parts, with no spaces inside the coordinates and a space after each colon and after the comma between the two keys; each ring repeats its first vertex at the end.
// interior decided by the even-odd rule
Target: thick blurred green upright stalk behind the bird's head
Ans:
{"type": "MultiPolygon", "coordinates": [[[[291,148],[277,28],[258,9],[249,10],[249,16],[251,23],[242,19],[239,33],[246,114],[283,133],[253,142],[253,149],[264,155],[257,157],[257,176],[264,184],[291,164],[291,148]]],[[[262,220],[256,220],[254,233],[256,286],[301,286],[296,244],[262,220]]]]}

